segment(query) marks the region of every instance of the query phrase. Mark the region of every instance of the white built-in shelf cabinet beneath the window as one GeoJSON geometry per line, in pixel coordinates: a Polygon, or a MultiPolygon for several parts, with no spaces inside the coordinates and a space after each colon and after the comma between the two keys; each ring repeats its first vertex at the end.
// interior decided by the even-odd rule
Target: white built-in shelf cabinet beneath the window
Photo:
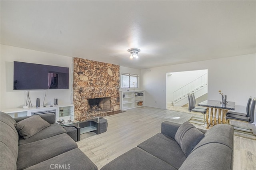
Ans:
{"type": "Polygon", "coordinates": [[[144,91],[120,91],[120,109],[126,110],[141,107],[138,103],[144,100],[144,91]]]}

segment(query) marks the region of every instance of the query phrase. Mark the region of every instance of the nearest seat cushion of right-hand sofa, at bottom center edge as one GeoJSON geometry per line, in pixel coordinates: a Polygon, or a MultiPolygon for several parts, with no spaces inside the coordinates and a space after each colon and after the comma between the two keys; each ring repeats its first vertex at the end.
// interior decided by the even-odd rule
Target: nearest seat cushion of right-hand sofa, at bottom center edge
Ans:
{"type": "Polygon", "coordinates": [[[176,168],[136,147],[118,156],[101,170],[176,170],[176,168]]]}

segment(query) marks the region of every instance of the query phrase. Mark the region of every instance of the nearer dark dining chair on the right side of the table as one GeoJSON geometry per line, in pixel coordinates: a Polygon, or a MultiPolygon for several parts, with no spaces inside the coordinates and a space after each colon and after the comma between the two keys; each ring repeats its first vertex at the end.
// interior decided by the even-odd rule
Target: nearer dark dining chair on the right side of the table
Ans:
{"type": "MultiPolygon", "coordinates": [[[[226,124],[230,125],[230,120],[232,121],[239,121],[239,122],[244,122],[244,123],[253,123],[254,122],[254,110],[255,110],[255,105],[256,105],[256,98],[254,98],[250,104],[250,110],[249,110],[249,117],[246,116],[241,116],[241,115],[227,115],[226,116],[226,124]]],[[[234,126],[234,130],[238,130],[241,132],[246,132],[246,133],[250,133],[253,134],[252,129],[251,128],[244,128],[244,127],[239,127],[239,126],[234,126]],[[237,129],[239,128],[239,129],[237,129]],[[243,129],[243,130],[242,130],[243,129]]],[[[256,134],[253,134],[254,136],[256,136],[256,134]]]]}

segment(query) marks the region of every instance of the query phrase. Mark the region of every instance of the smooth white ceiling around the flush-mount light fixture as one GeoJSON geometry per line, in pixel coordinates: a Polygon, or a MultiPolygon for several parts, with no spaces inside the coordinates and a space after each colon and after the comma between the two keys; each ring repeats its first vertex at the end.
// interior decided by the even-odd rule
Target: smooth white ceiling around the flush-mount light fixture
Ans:
{"type": "Polygon", "coordinates": [[[5,45],[137,69],[256,53],[256,1],[0,3],[5,45]]]}

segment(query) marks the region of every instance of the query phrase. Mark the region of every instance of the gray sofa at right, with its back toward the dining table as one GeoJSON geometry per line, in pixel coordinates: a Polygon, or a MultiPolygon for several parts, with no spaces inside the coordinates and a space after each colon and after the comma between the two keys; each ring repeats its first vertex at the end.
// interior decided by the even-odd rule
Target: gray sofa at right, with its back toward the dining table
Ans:
{"type": "Polygon", "coordinates": [[[163,122],[161,133],[139,144],[101,170],[232,170],[233,127],[210,130],[163,122]]]}

